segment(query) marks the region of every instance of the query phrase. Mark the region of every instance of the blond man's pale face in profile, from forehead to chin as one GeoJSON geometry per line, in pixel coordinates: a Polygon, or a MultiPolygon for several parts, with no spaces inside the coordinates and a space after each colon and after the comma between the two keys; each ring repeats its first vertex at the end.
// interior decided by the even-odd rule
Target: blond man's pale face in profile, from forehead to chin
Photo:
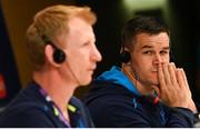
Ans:
{"type": "Polygon", "coordinates": [[[78,85],[88,85],[92,79],[97,62],[101,61],[101,54],[94,44],[92,26],[82,19],[73,18],[69,21],[68,34],[61,39],[66,44],[67,54],[63,71],[74,82],[79,81],[78,85]]]}

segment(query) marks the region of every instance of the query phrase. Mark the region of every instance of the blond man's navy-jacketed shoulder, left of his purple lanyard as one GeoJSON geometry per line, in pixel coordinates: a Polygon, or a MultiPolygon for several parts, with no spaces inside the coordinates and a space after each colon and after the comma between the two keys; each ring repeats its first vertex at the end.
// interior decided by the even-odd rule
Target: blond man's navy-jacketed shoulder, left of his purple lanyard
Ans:
{"type": "Polygon", "coordinates": [[[0,127],[51,127],[49,110],[36,87],[27,87],[1,112],[0,127]]]}

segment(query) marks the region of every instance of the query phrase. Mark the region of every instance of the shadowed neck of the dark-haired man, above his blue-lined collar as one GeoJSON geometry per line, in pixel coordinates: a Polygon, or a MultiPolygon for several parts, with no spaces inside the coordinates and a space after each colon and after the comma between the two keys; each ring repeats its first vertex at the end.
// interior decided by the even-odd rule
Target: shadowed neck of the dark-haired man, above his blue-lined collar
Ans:
{"type": "Polygon", "coordinates": [[[141,93],[141,95],[149,95],[153,92],[153,89],[151,86],[143,85],[139,77],[136,77],[132,69],[130,68],[130,64],[123,64],[122,66],[122,71],[124,75],[131,80],[131,82],[134,85],[136,89],[141,93]]]}

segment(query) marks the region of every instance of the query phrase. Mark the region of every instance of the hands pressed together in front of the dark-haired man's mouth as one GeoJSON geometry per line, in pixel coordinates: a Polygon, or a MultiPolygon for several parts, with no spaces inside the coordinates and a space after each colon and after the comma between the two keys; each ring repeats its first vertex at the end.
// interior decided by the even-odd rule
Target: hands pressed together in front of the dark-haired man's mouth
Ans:
{"type": "Polygon", "coordinates": [[[159,64],[158,79],[159,87],[153,88],[162,102],[169,107],[196,110],[183,69],[177,69],[174,63],[159,64]]]}

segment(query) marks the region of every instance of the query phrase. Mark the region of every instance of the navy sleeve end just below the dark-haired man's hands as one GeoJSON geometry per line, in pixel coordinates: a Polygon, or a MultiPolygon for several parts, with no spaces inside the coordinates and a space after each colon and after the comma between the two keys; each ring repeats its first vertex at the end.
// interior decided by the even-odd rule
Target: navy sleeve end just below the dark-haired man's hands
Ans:
{"type": "Polygon", "coordinates": [[[192,128],[194,125],[194,115],[187,108],[176,107],[170,110],[167,127],[192,128]]]}

